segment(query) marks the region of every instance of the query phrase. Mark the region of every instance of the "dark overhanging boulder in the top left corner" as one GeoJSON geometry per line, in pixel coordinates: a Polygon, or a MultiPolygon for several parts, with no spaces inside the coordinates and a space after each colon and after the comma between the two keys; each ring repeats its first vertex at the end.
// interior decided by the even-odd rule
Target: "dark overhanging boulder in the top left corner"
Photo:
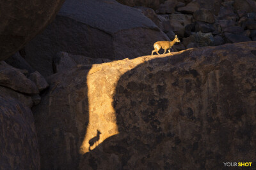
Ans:
{"type": "Polygon", "coordinates": [[[42,31],[63,3],[64,0],[1,1],[0,60],[13,55],[42,31]]]}

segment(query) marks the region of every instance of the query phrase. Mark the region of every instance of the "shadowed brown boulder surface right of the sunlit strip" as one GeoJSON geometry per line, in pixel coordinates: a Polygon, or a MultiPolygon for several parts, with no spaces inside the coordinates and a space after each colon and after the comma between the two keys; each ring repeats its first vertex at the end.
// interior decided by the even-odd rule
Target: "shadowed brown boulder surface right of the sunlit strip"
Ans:
{"type": "Polygon", "coordinates": [[[79,169],[225,169],[223,162],[255,161],[255,104],[245,102],[250,92],[241,83],[248,72],[237,72],[243,56],[227,49],[216,49],[226,50],[225,60],[198,48],[123,74],[113,102],[120,134],[84,154],[79,169]]]}

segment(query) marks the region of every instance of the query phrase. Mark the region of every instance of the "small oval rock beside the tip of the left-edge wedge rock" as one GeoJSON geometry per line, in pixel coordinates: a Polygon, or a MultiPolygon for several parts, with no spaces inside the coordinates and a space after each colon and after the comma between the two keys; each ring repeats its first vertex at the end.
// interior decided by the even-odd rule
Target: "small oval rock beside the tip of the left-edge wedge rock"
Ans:
{"type": "Polygon", "coordinates": [[[49,84],[47,83],[47,81],[38,71],[35,71],[34,73],[29,74],[28,78],[35,83],[36,87],[40,92],[46,89],[47,87],[49,87],[49,84]]]}

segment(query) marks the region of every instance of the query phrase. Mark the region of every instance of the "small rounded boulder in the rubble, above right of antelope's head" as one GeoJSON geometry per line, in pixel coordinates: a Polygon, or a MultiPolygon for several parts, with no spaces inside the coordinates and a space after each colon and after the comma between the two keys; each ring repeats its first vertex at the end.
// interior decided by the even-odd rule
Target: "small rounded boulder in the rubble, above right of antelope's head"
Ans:
{"type": "Polygon", "coordinates": [[[212,15],[211,11],[206,9],[200,9],[195,11],[195,13],[193,13],[193,17],[195,18],[195,20],[202,21],[202,22],[208,22],[208,23],[215,22],[214,16],[212,15]]]}

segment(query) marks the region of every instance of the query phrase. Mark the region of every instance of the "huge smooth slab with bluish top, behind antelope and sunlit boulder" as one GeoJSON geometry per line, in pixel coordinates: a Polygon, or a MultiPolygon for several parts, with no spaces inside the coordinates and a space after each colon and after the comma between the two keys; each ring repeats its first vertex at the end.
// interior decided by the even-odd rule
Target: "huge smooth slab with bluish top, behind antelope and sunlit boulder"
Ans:
{"type": "Polygon", "coordinates": [[[49,76],[52,57],[58,52],[117,60],[148,55],[161,40],[170,41],[136,8],[115,0],[67,0],[54,22],[26,45],[25,52],[29,64],[49,76]]]}

